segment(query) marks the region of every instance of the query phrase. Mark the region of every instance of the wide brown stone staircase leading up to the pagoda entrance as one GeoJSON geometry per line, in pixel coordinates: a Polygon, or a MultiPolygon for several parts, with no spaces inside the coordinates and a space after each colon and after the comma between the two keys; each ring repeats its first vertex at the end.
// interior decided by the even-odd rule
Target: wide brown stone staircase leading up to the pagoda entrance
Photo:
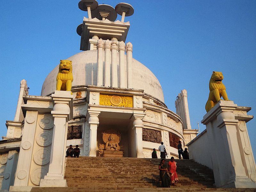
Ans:
{"type": "MultiPolygon", "coordinates": [[[[166,160],[168,165],[170,159],[166,160]]],[[[67,158],[65,179],[67,188],[32,188],[31,192],[198,192],[237,191],[250,192],[255,189],[214,188],[212,170],[193,160],[175,160],[179,183],[170,188],[161,187],[158,164],[160,159],[79,157],[67,158]]]]}

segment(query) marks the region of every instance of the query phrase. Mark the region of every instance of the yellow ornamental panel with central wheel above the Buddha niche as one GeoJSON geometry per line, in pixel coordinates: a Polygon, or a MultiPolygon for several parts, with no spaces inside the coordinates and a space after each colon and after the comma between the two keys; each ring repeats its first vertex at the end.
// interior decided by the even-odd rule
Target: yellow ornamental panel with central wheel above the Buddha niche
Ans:
{"type": "Polygon", "coordinates": [[[132,107],[132,96],[100,94],[100,105],[132,107]]]}

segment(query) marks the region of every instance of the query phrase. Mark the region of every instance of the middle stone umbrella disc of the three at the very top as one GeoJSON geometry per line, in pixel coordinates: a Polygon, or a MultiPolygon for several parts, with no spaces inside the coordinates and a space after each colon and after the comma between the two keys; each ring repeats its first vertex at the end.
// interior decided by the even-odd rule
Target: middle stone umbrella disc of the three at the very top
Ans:
{"type": "Polygon", "coordinates": [[[114,9],[114,7],[112,7],[110,5],[106,5],[106,4],[100,4],[97,7],[97,9],[93,10],[91,12],[92,18],[96,17],[97,19],[101,20],[100,12],[109,12],[109,15],[106,19],[108,19],[110,21],[115,21],[117,18],[117,13],[116,13],[116,10],[114,9]]]}

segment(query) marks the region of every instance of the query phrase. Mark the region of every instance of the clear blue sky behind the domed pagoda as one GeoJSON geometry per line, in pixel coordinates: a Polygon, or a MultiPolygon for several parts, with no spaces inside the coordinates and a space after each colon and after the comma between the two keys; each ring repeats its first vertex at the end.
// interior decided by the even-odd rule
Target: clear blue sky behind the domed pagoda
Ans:
{"type": "MultiPolygon", "coordinates": [[[[45,77],[60,59],[80,52],[76,27],[87,12],[78,9],[78,2],[1,2],[0,136],[6,135],[5,121],[15,116],[20,80],[27,80],[30,95],[40,95],[45,77]]],[[[113,7],[120,3],[98,2],[113,7]]],[[[133,58],[158,78],[169,109],[175,112],[176,96],[187,89],[191,126],[197,128],[206,113],[212,71],[222,71],[229,100],[252,107],[249,115],[256,115],[256,1],[125,2],[135,10],[125,18],[131,24],[126,42],[133,44],[133,58]]],[[[247,123],[254,154],[255,127],[255,119],[247,123]]]]}

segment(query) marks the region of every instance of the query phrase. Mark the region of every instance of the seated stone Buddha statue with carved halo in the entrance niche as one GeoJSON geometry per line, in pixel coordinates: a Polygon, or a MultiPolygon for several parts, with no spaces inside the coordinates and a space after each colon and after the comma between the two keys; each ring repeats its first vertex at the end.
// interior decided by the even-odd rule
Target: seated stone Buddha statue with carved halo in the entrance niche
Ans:
{"type": "Polygon", "coordinates": [[[99,156],[123,157],[123,146],[119,146],[121,134],[115,131],[102,132],[102,140],[105,144],[99,144],[99,156]]]}

